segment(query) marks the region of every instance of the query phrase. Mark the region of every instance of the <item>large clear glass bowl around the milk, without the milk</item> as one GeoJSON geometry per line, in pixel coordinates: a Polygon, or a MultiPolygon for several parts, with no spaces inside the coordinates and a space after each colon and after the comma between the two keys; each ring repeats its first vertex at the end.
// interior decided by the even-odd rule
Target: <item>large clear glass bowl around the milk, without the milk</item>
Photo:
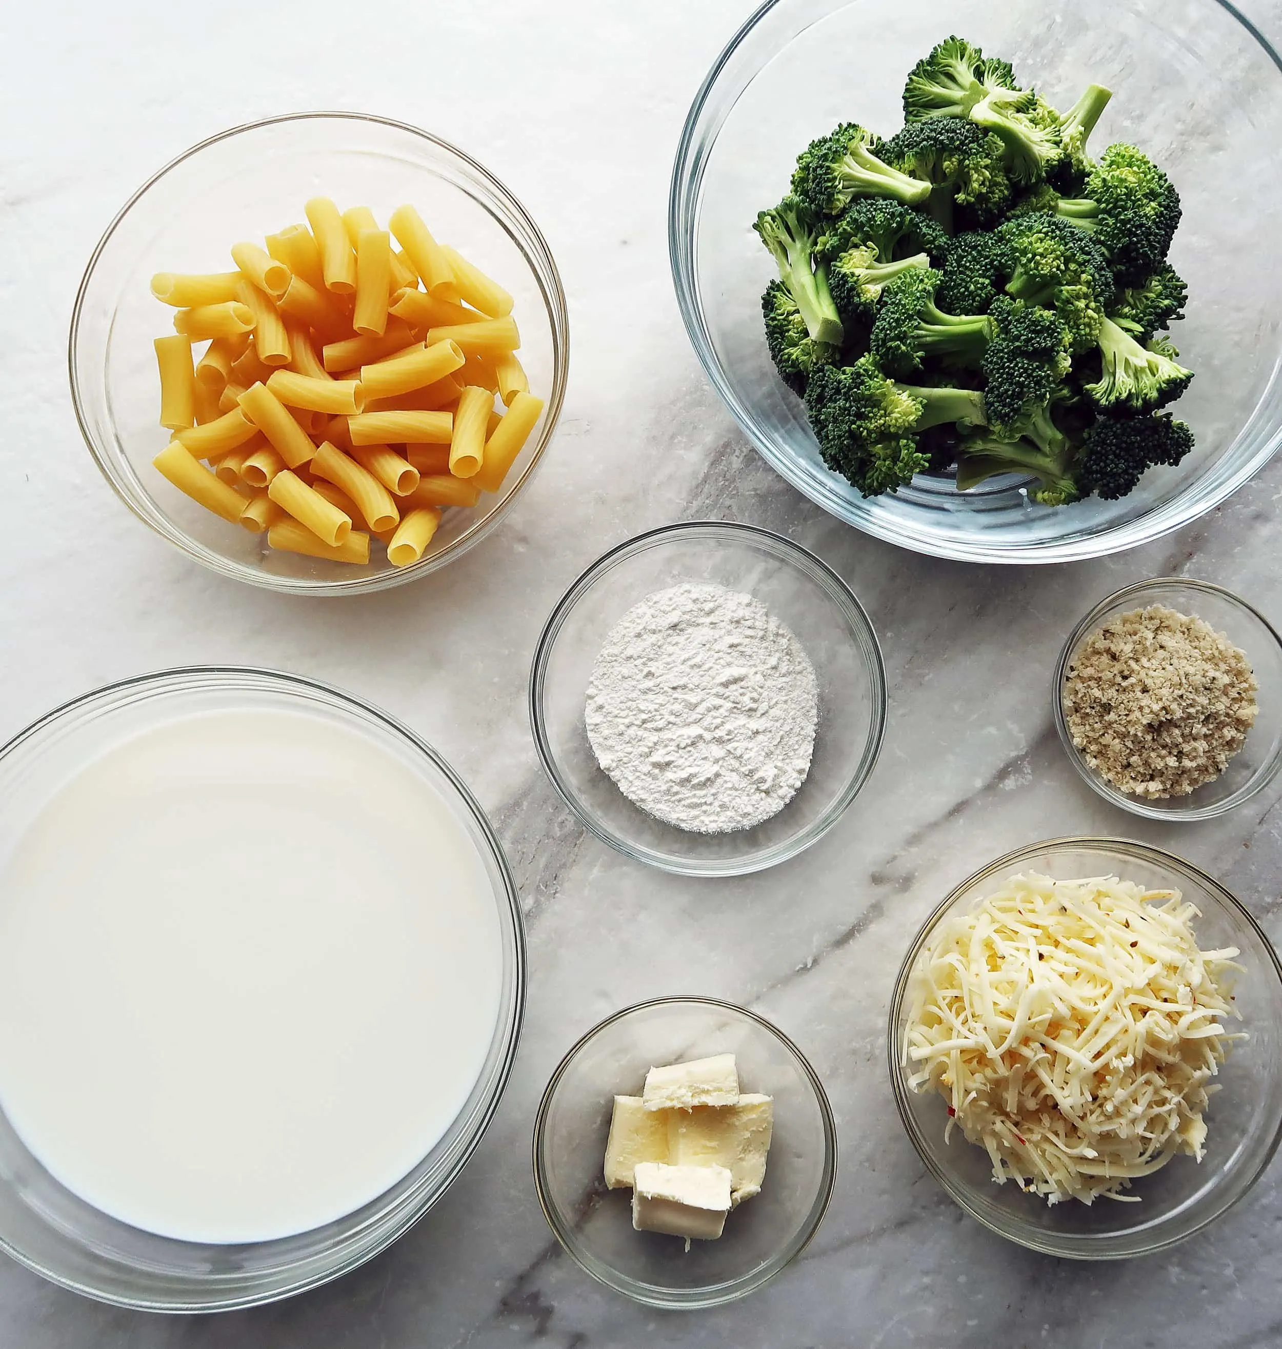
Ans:
{"type": "MultiPolygon", "coordinates": [[[[499,1106],[520,1032],[526,947],[503,847],[454,770],[413,731],[349,693],[271,670],[208,666],[123,680],[55,708],[0,750],[0,858],[69,777],[121,738],[173,716],[303,708],[368,737],[454,812],[493,892],[503,983],[480,1078],[453,1125],[377,1199],[311,1232],[247,1245],[175,1241],[128,1226],[59,1184],[0,1112],[0,1249],[75,1292],[150,1311],[220,1311],[301,1292],[395,1241],[445,1193],[499,1106]]],[[[413,1068],[411,1068],[413,1071],[413,1068]]]]}

